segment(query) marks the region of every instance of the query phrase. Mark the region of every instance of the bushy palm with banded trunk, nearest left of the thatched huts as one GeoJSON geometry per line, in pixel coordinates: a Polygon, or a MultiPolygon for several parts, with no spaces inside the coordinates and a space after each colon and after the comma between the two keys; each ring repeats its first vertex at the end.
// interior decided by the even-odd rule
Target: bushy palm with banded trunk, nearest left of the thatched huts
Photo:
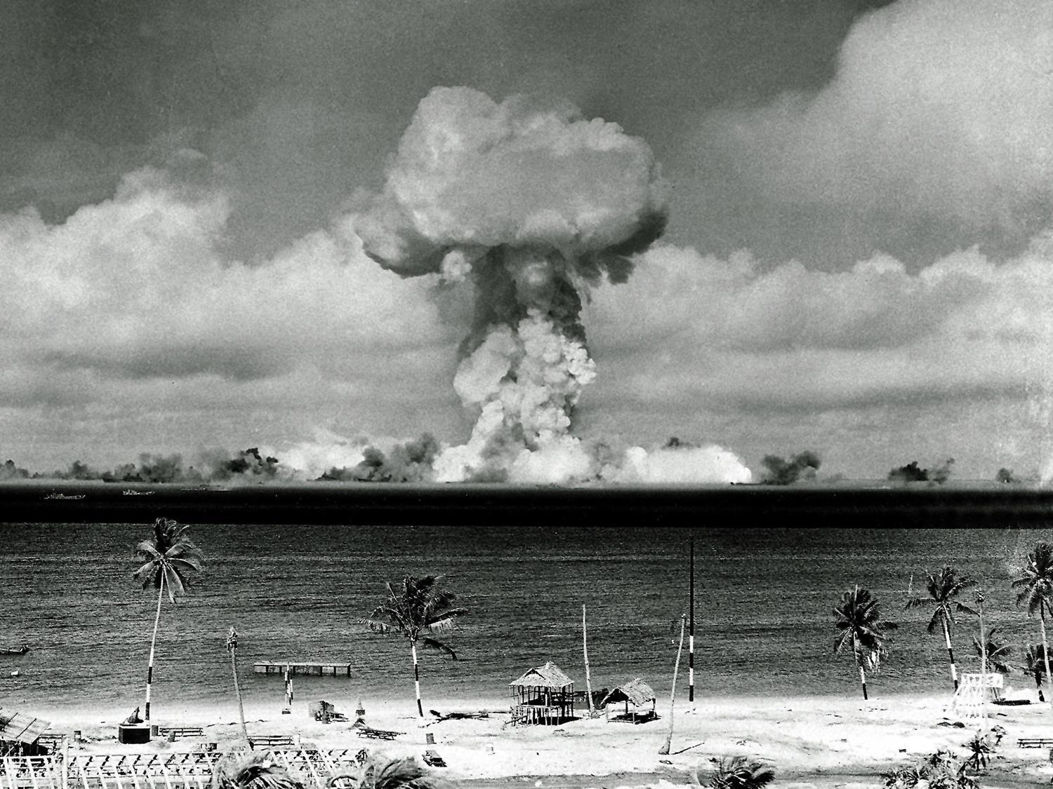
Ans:
{"type": "Polygon", "coordinates": [[[436,632],[451,629],[458,616],[468,613],[466,608],[454,608],[454,593],[438,588],[441,576],[424,575],[414,578],[406,575],[402,587],[396,591],[388,584],[388,600],[373,609],[373,612],[358,623],[365,625],[374,632],[388,633],[392,630],[402,633],[410,642],[410,652],[413,655],[413,682],[417,691],[417,714],[424,716],[424,708],[420,703],[420,669],[417,665],[417,642],[425,647],[436,649],[457,660],[457,653],[441,641],[423,636],[424,632],[436,632]]]}

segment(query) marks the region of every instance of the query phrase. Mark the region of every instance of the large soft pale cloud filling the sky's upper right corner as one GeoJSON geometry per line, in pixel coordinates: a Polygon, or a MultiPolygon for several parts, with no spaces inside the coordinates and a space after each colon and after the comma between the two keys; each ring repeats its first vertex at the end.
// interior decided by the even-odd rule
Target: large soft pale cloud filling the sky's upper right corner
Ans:
{"type": "Polygon", "coordinates": [[[1026,241],[1053,201],[1053,6],[900,0],[858,19],[817,94],[710,115],[768,199],[1026,241]]]}

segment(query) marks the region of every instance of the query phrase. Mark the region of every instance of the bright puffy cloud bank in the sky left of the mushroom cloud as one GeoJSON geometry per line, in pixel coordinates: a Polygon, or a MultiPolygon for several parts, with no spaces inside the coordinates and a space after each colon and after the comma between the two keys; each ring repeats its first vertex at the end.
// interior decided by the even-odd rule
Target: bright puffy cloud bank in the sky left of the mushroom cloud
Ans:
{"type": "Polygon", "coordinates": [[[451,342],[431,283],[378,268],[350,219],[251,266],[219,251],[229,205],[147,168],[58,225],[0,217],[6,368],[258,381],[451,342]]]}

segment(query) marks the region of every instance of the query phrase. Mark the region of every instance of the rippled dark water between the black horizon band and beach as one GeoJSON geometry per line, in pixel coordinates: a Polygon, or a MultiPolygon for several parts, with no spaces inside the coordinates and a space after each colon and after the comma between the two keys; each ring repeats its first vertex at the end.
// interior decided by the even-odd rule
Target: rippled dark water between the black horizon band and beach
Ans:
{"type": "MultiPolygon", "coordinates": [[[[132,709],[142,702],[156,605],[131,573],[148,527],[0,525],[0,707],[69,704],[132,709]],[[18,668],[20,676],[9,677],[18,668]]],[[[257,660],[352,664],[351,677],[296,677],[298,700],[413,697],[406,643],[357,623],[403,574],[437,573],[470,609],[448,636],[459,660],[421,652],[425,709],[458,699],[505,699],[524,670],[554,661],[584,688],[581,605],[593,688],[636,676],[668,697],[678,618],[688,610],[688,531],[678,528],[502,528],[197,525],[205,572],[182,602],[165,599],[154,705],[215,703],[231,693],[225,649],[239,633],[240,680],[254,701],[280,704],[278,675],[257,660]]],[[[942,638],[929,613],[903,610],[913,575],[943,564],[979,579],[985,621],[1015,648],[1038,641],[1016,608],[1012,567],[1053,530],[695,528],[696,696],[858,694],[851,656],[833,653],[832,608],[869,587],[900,624],[873,696],[950,688],[942,638]]],[[[970,595],[971,596],[971,595],[970,595]]],[[[971,602],[971,600],[967,600],[971,602]]],[[[975,669],[975,618],[955,635],[975,669]]],[[[1017,674],[1011,682],[1033,687],[1017,674]]],[[[678,681],[687,692],[687,647],[678,681]]],[[[683,696],[686,697],[686,695],[683,696]]]]}

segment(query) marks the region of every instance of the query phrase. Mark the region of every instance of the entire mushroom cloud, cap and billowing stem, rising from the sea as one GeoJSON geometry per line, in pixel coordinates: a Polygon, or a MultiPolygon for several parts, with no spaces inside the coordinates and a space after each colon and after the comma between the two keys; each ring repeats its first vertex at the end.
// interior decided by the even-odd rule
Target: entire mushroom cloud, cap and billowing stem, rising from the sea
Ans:
{"type": "Polygon", "coordinates": [[[667,198],[643,140],[569,103],[466,87],[421,101],[358,231],[385,268],[474,285],[454,387],[476,422],[436,459],[437,481],[595,477],[571,432],[596,375],[582,294],[629,277],[667,198]]]}

